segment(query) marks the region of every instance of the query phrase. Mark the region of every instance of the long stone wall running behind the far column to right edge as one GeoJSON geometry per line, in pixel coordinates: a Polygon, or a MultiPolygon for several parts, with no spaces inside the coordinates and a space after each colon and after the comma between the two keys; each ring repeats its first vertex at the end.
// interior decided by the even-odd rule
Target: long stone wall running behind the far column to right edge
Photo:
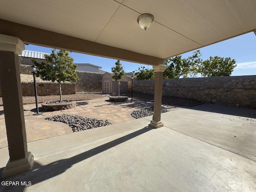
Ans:
{"type": "MultiPolygon", "coordinates": [[[[154,80],[134,81],[133,91],[154,94],[154,80]]],[[[166,79],[163,80],[163,95],[256,108],[256,76],[166,79]]]]}

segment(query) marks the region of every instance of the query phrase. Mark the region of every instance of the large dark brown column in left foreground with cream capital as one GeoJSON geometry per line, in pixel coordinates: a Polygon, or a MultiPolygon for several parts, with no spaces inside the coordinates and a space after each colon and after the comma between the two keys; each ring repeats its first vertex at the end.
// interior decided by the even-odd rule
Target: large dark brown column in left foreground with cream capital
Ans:
{"type": "Polygon", "coordinates": [[[2,172],[7,178],[32,168],[34,156],[28,152],[19,56],[24,43],[17,37],[0,34],[0,84],[10,159],[2,172]]]}

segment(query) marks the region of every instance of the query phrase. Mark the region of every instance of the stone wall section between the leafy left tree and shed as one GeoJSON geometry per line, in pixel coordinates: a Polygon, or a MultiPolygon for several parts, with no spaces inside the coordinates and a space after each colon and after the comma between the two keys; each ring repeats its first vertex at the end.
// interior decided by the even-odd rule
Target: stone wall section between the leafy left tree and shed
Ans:
{"type": "Polygon", "coordinates": [[[78,82],[76,83],[76,92],[102,92],[103,74],[87,71],[76,71],[78,82]]]}

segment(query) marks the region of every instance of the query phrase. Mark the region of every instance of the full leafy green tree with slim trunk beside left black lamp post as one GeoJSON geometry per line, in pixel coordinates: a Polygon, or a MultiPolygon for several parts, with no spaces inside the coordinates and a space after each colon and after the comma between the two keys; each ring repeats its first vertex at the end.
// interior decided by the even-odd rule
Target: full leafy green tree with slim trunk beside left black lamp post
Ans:
{"type": "Polygon", "coordinates": [[[61,82],[77,82],[77,65],[73,64],[74,59],[69,56],[69,52],[59,50],[55,53],[52,50],[50,55],[45,54],[46,63],[38,63],[32,59],[33,64],[38,68],[37,77],[46,81],[58,81],[60,87],[60,101],[62,101],[61,82]]]}

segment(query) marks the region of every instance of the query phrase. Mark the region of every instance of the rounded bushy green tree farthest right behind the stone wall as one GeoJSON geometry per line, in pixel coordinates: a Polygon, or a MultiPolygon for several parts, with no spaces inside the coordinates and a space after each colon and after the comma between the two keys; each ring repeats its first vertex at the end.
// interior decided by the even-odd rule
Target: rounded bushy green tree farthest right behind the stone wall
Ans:
{"type": "Polygon", "coordinates": [[[230,76],[235,67],[234,59],[215,56],[203,61],[199,66],[199,72],[203,77],[230,76]]]}

